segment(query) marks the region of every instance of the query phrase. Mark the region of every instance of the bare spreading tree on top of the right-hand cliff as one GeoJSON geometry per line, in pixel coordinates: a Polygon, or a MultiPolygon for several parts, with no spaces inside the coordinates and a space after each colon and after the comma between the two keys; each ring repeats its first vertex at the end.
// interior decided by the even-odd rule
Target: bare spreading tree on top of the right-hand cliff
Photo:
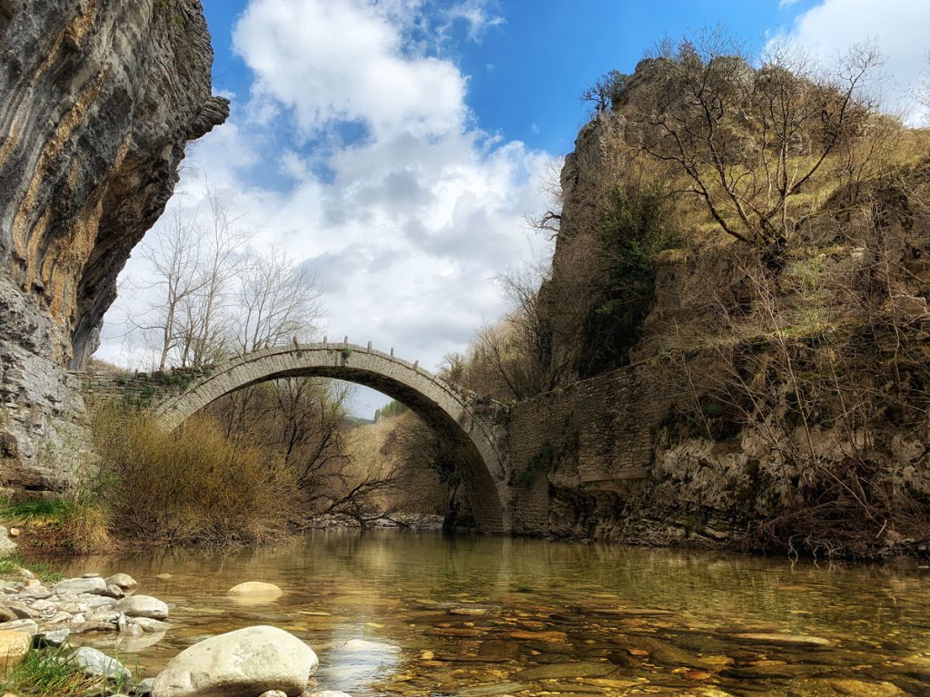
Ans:
{"type": "Polygon", "coordinates": [[[719,30],[665,46],[619,101],[640,151],[684,175],[724,232],[778,250],[803,218],[792,202],[877,115],[866,87],[881,57],[857,46],[828,72],[775,42],[755,70],[742,53],[719,30]]]}

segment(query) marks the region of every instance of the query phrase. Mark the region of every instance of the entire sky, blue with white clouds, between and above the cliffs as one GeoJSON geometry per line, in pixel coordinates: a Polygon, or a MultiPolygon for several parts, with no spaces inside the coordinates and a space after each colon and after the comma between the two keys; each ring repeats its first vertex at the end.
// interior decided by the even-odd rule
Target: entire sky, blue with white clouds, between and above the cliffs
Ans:
{"type": "MultiPolygon", "coordinates": [[[[885,106],[920,79],[930,0],[205,0],[214,91],[231,116],[188,149],[169,207],[213,191],[259,248],[316,274],[320,335],[432,367],[505,310],[496,279],[544,272],[527,215],[553,205],[582,90],[631,72],[663,36],[721,24],[751,46],[786,36],[830,61],[888,57],[885,106]]],[[[913,114],[912,114],[913,116],[913,114]]],[[[159,223],[143,244],[157,243],[159,223]]],[[[149,367],[127,332],[151,278],[126,265],[101,358],[149,367]],[[140,283],[141,282],[141,283],[140,283]]],[[[357,412],[383,401],[360,392],[357,412]]]]}

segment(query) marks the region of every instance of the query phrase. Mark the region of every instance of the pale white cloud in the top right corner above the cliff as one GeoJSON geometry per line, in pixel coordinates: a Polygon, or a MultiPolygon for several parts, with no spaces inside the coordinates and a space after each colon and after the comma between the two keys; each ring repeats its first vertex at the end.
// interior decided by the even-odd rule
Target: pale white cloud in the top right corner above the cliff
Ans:
{"type": "Polygon", "coordinates": [[[916,123],[923,114],[908,92],[918,85],[927,66],[928,29],[927,0],[823,0],[794,20],[789,35],[827,61],[874,39],[887,57],[884,107],[907,111],[911,123],[916,123]]]}

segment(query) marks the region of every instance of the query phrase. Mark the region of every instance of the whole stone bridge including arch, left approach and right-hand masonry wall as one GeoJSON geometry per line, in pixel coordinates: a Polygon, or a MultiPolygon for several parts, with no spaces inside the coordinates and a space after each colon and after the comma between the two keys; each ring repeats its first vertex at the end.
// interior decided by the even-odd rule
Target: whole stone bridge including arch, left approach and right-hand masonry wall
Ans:
{"type": "MultiPolygon", "coordinates": [[[[195,370],[82,374],[88,397],[155,408],[175,427],[236,388],[275,377],[318,375],[379,389],[402,401],[458,451],[479,528],[487,533],[609,535],[566,515],[565,493],[615,502],[642,490],[662,419],[688,392],[661,361],[582,380],[504,408],[449,385],[416,363],[350,344],[266,349],[195,370]],[[574,519],[571,529],[560,522],[574,519]]],[[[616,513],[588,518],[616,522],[616,513]]]]}

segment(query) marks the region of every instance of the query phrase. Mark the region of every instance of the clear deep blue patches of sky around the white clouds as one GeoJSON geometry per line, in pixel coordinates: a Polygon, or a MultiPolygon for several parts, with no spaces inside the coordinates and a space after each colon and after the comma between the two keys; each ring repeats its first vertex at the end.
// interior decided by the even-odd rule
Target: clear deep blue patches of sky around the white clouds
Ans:
{"type": "MultiPolygon", "coordinates": [[[[204,2],[216,53],[214,85],[243,96],[251,73],[233,49],[232,36],[246,5],[246,0],[204,2]]],[[[485,27],[477,41],[470,40],[468,22],[457,21],[440,55],[454,60],[468,76],[467,103],[482,128],[531,148],[564,153],[571,151],[585,121],[581,91],[609,70],[632,72],[663,35],[677,38],[720,23],[761,45],[814,5],[815,0],[485,3],[485,12],[501,21],[485,27]]]]}

